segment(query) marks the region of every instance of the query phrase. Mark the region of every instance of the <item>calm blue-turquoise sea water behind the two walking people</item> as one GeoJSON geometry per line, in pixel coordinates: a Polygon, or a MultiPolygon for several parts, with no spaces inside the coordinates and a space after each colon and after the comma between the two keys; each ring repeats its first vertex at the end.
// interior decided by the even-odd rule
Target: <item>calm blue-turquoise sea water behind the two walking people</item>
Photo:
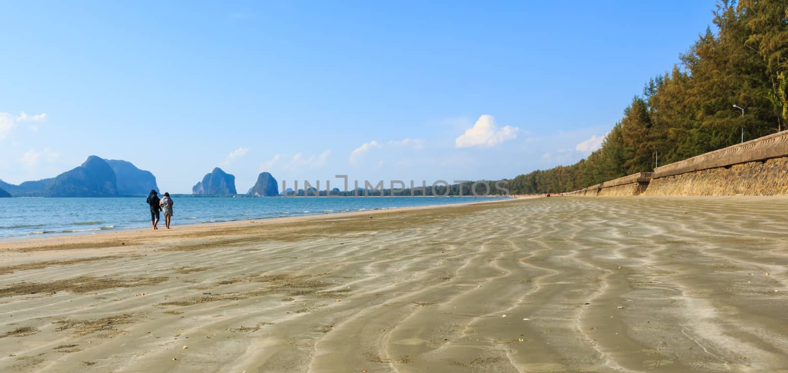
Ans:
{"type": "MultiPolygon", "coordinates": [[[[172,225],[484,201],[477,197],[173,198],[172,225]]],[[[0,238],[150,227],[145,198],[0,198],[0,238]]],[[[164,215],[159,227],[164,227],[164,215]]]]}

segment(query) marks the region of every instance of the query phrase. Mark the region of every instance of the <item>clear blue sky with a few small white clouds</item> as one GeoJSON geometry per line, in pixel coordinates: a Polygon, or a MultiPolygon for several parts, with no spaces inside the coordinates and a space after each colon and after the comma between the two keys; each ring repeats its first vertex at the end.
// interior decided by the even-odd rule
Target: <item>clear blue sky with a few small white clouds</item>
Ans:
{"type": "Polygon", "coordinates": [[[431,183],[571,164],[713,8],[0,2],[0,179],[89,155],[131,161],[173,193],[217,166],[246,192],[262,171],[431,183]]]}

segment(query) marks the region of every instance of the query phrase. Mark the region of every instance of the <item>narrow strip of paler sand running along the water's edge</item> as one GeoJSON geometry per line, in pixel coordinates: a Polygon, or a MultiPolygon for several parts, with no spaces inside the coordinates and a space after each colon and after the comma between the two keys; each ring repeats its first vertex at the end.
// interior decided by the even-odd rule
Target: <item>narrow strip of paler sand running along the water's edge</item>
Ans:
{"type": "MultiPolygon", "coordinates": [[[[434,196],[428,196],[434,197],[434,196]]],[[[505,201],[517,201],[522,199],[533,199],[533,198],[541,198],[541,196],[522,196],[522,195],[515,195],[510,196],[510,198],[495,198],[489,201],[468,201],[468,202],[459,202],[459,203],[451,203],[451,204],[444,204],[444,205],[422,205],[422,206],[407,206],[407,207],[396,207],[396,208],[388,208],[388,209],[370,209],[370,210],[361,210],[361,211],[348,211],[348,212],[325,212],[319,214],[305,214],[299,216],[276,216],[276,217],[268,217],[268,218],[261,218],[261,219],[243,219],[243,220],[227,220],[227,221],[220,221],[220,222],[195,222],[195,223],[181,223],[180,225],[174,226],[169,231],[165,227],[160,227],[158,231],[162,231],[161,233],[158,231],[154,231],[151,229],[150,225],[145,227],[128,227],[125,229],[118,229],[118,230],[99,230],[99,231],[82,231],[82,232],[56,232],[46,235],[37,235],[37,236],[13,236],[13,237],[5,237],[0,238],[0,252],[4,250],[15,250],[15,249],[30,249],[33,246],[41,245],[41,246],[53,246],[58,245],[61,243],[69,243],[69,244],[76,244],[78,242],[87,242],[87,241],[96,241],[99,238],[126,238],[126,237],[133,237],[136,235],[140,235],[143,232],[154,231],[151,235],[167,235],[165,237],[169,237],[172,235],[188,235],[190,233],[199,232],[202,230],[214,230],[217,228],[233,228],[233,227],[247,227],[247,223],[254,223],[256,226],[260,225],[270,225],[270,224],[287,224],[287,223],[301,223],[306,221],[320,221],[320,220],[327,220],[333,218],[344,218],[344,217],[352,217],[352,216],[360,216],[365,214],[380,214],[386,212],[408,212],[408,211],[418,211],[418,210],[425,210],[425,209],[441,209],[447,207],[455,207],[455,206],[463,206],[463,205],[481,205],[481,204],[488,204],[488,203],[500,203],[505,201]],[[110,237],[111,236],[111,237],[110,237]],[[62,242],[58,242],[62,241],[62,242]]],[[[160,220],[159,224],[162,225],[164,220],[160,220]]]]}

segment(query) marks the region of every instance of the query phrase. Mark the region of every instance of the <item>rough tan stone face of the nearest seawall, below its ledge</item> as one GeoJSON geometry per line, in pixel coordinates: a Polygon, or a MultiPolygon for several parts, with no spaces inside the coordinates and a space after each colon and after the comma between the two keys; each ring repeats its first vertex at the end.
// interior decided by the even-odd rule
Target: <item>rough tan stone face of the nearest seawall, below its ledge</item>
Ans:
{"type": "Polygon", "coordinates": [[[652,179],[649,196],[788,195],[788,157],[652,179]]]}

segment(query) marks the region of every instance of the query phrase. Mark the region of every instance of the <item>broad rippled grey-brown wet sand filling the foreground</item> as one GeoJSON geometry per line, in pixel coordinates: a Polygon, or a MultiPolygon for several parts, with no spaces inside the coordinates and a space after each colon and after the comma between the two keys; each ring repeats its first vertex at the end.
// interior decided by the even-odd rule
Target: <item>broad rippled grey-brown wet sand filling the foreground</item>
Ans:
{"type": "Polygon", "coordinates": [[[0,242],[0,371],[788,372],[788,198],[0,242]]]}

